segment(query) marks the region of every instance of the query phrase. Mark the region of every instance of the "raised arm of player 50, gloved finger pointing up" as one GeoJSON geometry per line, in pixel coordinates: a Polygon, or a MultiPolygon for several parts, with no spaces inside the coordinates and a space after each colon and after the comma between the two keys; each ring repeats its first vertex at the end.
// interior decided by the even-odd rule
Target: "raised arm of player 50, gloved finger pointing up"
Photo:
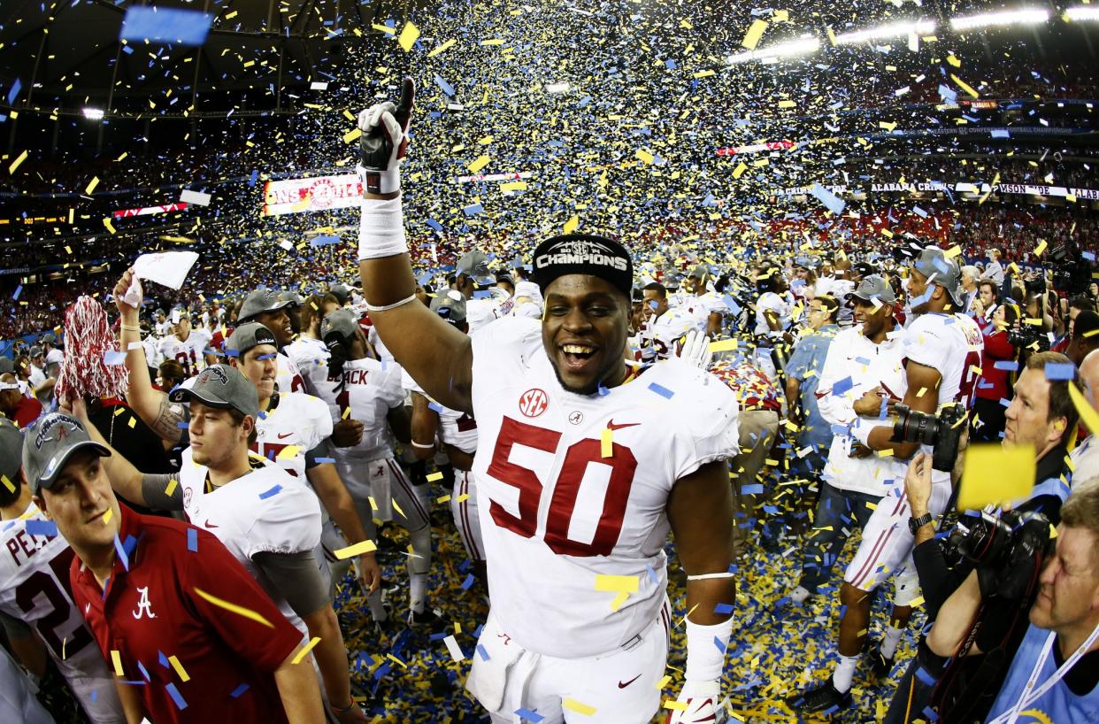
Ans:
{"type": "Polygon", "coordinates": [[[432,398],[470,412],[469,337],[417,300],[404,241],[399,165],[408,147],[414,88],[406,78],[399,105],[379,103],[358,118],[363,132],[358,272],[370,321],[397,361],[432,398]]]}

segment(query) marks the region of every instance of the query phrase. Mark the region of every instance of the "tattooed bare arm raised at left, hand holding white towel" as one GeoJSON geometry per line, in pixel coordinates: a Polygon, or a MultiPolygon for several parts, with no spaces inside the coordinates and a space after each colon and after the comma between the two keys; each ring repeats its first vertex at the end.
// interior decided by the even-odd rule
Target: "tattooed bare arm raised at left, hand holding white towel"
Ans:
{"type": "MultiPolygon", "coordinates": [[[[141,327],[137,326],[137,308],[123,301],[131,283],[135,283],[133,269],[126,269],[119,283],[114,285],[114,305],[119,308],[119,345],[126,352],[126,369],[130,370],[130,387],[126,402],[146,425],[169,443],[178,443],[184,422],[182,408],[168,401],[168,396],[153,388],[145,361],[145,349],[141,344],[141,327]]],[[[136,282],[140,285],[140,282],[136,282]]],[[[141,287],[138,286],[138,289],[141,287]]],[[[125,493],[123,493],[125,494],[125,493]]]]}

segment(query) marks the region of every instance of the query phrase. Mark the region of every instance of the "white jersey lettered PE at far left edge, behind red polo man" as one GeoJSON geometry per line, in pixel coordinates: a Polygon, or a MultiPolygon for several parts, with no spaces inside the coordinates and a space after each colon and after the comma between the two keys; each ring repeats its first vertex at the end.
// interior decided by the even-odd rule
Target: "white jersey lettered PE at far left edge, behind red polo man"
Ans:
{"type": "Polygon", "coordinates": [[[33,503],[0,523],[0,611],[34,630],[92,722],[124,722],[113,676],[73,603],[73,549],[60,535],[29,533],[30,521],[48,524],[33,503]]]}

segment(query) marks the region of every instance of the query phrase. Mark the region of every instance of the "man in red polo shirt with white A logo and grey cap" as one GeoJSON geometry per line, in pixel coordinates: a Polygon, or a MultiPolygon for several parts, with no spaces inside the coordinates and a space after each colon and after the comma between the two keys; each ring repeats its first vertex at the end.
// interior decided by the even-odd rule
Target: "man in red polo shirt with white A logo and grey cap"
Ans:
{"type": "Polygon", "coordinates": [[[323,722],[301,635],[211,534],[121,505],[74,417],[26,433],[35,504],[76,558],[73,599],[118,677],[131,724],[323,722]],[[301,660],[301,664],[296,661],[301,660]]]}

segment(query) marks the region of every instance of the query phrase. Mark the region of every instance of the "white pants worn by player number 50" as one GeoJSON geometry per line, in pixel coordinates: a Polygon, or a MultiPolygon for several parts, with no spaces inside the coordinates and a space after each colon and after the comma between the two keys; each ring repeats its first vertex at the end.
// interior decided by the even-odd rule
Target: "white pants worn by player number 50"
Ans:
{"type": "Polygon", "coordinates": [[[668,657],[670,606],[624,646],[600,656],[566,659],[528,650],[500,628],[489,611],[473,653],[466,689],[492,724],[520,724],[537,711],[540,724],[647,724],[660,706],[668,657]],[[481,653],[480,649],[484,649],[481,653]]]}

